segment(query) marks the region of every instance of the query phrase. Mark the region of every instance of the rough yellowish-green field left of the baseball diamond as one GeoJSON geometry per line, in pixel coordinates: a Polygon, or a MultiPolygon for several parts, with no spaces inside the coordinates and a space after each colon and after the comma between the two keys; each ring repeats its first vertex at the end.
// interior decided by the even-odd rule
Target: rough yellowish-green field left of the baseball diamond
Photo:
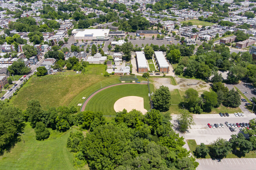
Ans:
{"type": "MultiPolygon", "coordinates": [[[[34,75],[10,102],[22,110],[26,109],[27,102],[31,99],[38,99],[43,109],[47,106],[68,106],[86,88],[109,78],[102,75],[105,65],[89,65],[87,70],[85,75],[34,75]]],[[[112,76],[114,77],[110,77],[112,76]]]]}

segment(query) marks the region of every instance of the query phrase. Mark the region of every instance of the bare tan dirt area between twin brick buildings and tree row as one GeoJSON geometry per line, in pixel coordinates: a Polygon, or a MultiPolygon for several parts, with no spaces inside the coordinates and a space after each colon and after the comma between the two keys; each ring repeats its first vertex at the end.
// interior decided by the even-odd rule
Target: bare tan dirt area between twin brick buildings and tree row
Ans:
{"type": "Polygon", "coordinates": [[[179,77],[174,77],[174,79],[176,80],[177,85],[172,85],[170,78],[154,78],[153,84],[156,89],[163,85],[163,86],[167,86],[170,89],[170,91],[174,89],[185,91],[189,88],[194,88],[198,90],[200,93],[205,90],[209,91],[209,88],[210,88],[210,83],[206,83],[201,80],[185,79],[185,78],[179,78],[179,77]],[[188,86],[187,84],[196,84],[196,85],[188,86]]]}

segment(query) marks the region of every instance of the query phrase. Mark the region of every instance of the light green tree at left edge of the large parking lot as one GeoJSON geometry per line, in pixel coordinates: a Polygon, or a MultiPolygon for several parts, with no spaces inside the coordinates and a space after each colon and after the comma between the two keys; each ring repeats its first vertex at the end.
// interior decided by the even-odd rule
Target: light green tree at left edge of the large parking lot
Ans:
{"type": "Polygon", "coordinates": [[[179,127],[179,131],[181,133],[185,133],[188,128],[191,128],[191,125],[194,125],[194,119],[192,114],[190,114],[190,112],[188,112],[188,110],[181,110],[180,111],[181,114],[178,115],[178,127],[179,127]]]}

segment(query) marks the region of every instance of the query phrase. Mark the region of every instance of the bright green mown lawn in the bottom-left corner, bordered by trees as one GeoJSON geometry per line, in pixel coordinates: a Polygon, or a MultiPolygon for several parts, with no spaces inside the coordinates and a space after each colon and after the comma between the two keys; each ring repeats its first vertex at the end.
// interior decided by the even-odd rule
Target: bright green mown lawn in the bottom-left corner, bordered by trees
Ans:
{"type": "Polygon", "coordinates": [[[37,141],[34,129],[26,124],[19,142],[9,153],[0,156],[0,169],[75,169],[73,154],[66,148],[68,132],[62,137],[47,141],[37,141]]]}

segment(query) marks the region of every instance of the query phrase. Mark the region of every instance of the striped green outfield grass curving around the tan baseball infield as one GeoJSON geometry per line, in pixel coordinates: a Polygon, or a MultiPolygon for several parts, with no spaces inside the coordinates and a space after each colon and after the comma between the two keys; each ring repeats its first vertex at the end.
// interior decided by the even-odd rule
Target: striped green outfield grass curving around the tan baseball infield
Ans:
{"type": "MultiPolygon", "coordinates": [[[[154,91],[153,84],[150,84],[151,92],[154,91]]],[[[97,93],[86,105],[85,110],[102,112],[104,115],[115,115],[115,102],[126,96],[139,96],[144,98],[144,108],[150,109],[147,84],[123,84],[107,88],[97,93]]]]}

